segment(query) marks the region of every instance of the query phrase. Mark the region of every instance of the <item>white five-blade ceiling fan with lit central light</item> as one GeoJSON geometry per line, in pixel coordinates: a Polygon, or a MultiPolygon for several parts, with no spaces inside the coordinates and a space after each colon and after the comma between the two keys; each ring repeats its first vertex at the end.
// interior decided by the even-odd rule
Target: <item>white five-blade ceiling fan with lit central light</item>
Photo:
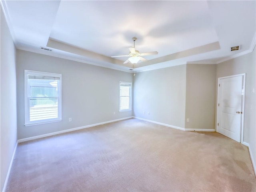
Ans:
{"type": "Polygon", "coordinates": [[[138,63],[140,60],[141,61],[146,61],[146,59],[144,59],[141,56],[146,56],[146,55],[156,55],[158,54],[157,51],[153,51],[153,52],[146,52],[146,53],[140,53],[138,50],[135,50],[135,41],[137,40],[136,37],[132,38],[134,46],[133,47],[128,47],[130,52],[128,55],[118,55],[118,56],[111,56],[111,57],[130,57],[128,58],[128,60],[126,60],[124,62],[124,64],[128,63],[129,61],[134,64],[134,63],[138,63]]]}

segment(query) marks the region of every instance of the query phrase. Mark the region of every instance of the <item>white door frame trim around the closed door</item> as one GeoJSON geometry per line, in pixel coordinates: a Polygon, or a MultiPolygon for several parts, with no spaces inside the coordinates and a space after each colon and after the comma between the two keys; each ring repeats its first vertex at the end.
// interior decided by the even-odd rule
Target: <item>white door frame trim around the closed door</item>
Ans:
{"type": "Polygon", "coordinates": [[[218,126],[218,87],[220,84],[220,80],[222,79],[226,79],[226,78],[232,78],[232,77],[237,77],[237,76],[243,76],[243,87],[242,87],[242,117],[241,117],[241,138],[240,138],[240,143],[244,142],[244,103],[245,103],[245,90],[246,90],[246,73],[242,73],[242,74],[236,74],[236,75],[230,75],[230,76],[225,76],[225,77],[219,77],[218,78],[218,84],[217,84],[217,103],[216,103],[216,108],[217,108],[217,112],[216,112],[216,127],[215,127],[215,131],[217,132],[217,126],[218,126]]]}

